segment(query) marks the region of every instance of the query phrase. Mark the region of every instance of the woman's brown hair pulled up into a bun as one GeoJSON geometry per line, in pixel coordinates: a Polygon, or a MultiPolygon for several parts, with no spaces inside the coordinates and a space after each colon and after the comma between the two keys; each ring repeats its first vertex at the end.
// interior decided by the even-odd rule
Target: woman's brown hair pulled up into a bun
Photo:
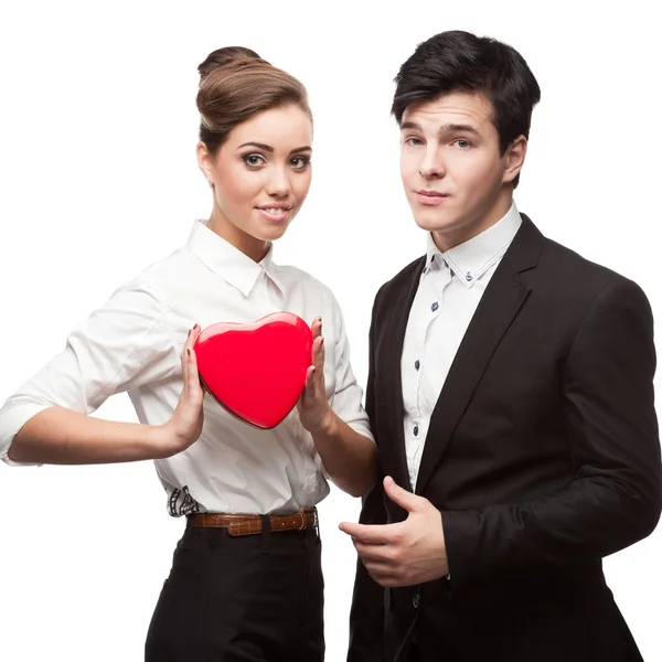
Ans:
{"type": "Polygon", "coordinates": [[[236,126],[254,115],[293,104],[312,119],[306,87],[243,46],[213,51],[197,67],[200,140],[215,154],[236,126]]]}

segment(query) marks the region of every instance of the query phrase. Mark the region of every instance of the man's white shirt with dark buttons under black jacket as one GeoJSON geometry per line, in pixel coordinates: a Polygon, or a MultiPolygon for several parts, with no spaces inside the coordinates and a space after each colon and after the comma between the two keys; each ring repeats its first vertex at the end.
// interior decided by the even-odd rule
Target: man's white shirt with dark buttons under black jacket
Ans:
{"type": "Polygon", "coordinates": [[[446,253],[428,233],[426,261],[409,311],[401,361],[405,448],[413,489],[425,444],[434,442],[426,439],[430,417],[455,355],[521,224],[513,203],[494,225],[446,253]]]}

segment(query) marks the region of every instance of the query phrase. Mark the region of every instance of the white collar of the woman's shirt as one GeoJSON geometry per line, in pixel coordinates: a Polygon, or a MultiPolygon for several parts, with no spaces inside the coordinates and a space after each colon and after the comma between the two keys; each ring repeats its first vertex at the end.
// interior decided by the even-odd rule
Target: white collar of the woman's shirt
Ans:
{"type": "Polygon", "coordinates": [[[278,266],[274,264],[271,255],[274,253],[273,244],[267,255],[259,263],[256,263],[229,242],[211,231],[204,221],[195,221],[186,247],[206,267],[218,274],[229,285],[236,287],[245,297],[250,293],[263,271],[282,291],[278,266]]]}

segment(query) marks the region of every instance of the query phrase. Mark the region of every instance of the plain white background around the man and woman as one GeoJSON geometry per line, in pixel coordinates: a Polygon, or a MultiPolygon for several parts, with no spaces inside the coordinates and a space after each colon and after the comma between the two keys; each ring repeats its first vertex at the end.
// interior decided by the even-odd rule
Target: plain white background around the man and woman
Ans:
{"type": "MultiPolygon", "coordinates": [[[[466,29],[514,45],[542,87],[516,191],[549,237],[637,280],[662,316],[660,35],[653,7],[455,2],[13,2],[0,10],[0,401],[125,279],[210,210],[194,158],[196,66],[246,45],[298,76],[313,183],[277,245],[335,292],[359,381],[378,286],[424,252],[401,190],[392,79],[466,29]]],[[[98,416],[135,420],[126,395],[98,416]]],[[[636,444],[637,439],[632,439],[636,444]]],[[[344,659],[359,501],[321,505],[331,662],[344,659]]],[[[182,522],[150,462],[0,466],[0,659],[141,660],[182,522]]],[[[606,560],[643,656],[662,659],[662,534],[606,560]]],[[[480,632],[477,632],[480,636],[480,632]]]]}

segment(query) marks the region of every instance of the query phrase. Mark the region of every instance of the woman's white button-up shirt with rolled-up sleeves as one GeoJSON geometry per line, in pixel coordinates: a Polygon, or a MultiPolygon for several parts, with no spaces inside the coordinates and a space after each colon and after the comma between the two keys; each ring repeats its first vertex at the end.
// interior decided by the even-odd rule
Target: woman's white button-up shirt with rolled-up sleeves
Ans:
{"type": "MultiPolygon", "coordinates": [[[[128,392],[141,423],[169,420],[182,391],[180,354],[189,329],[253,322],[287,310],[323,324],[327,396],[340,418],[372,438],[350,364],[341,310],[312,276],[278,266],[271,250],[255,263],[195,222],[185,246],[121,286],[70,335],[64,351],[0,409],[0,458],[35,414],[52,406],[92,414],[128,392]]],[[[204,398],[197,441],[154,460],[170,514],[278,513],[311,508],[329,493],[321,458],[297,409],[277,427],[249,426],[204,398]]]]}

